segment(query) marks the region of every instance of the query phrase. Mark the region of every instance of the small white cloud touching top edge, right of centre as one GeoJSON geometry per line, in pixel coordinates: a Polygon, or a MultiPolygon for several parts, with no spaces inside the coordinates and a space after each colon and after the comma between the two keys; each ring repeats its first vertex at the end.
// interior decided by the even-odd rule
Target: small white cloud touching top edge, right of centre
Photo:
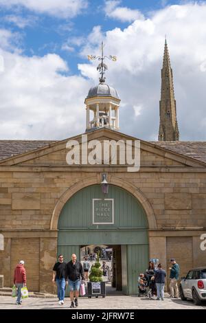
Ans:
{"type": "Polygon", "coordinates": [[[139,10],[130,9],[127,7],[119,7],[122,1],[108,0],[105,1],[104,12],[106,16],[112,19],[117,19],[122,22],[132,22],[136,19],[144,19],[143,14],[139,10]]]}

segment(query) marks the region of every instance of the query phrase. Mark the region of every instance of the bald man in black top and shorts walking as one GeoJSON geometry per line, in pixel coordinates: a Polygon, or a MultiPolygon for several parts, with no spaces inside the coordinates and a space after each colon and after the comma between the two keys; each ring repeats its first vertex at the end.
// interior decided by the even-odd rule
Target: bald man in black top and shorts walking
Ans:
{"type": "Polygon", "coordinates": [[[76,307],[78,307],[78,296],[80,291],[80,279],[84,283],[84,270],[82,264],[76,260],[76,254],[71,255],[71,261],[67,263],[67,277],[69,279],[69,289],[71,306],[74,307],[74,302],[76,307]],[[75,297],[75,300],[74,300],[75,297]],[[74,302],[73,302],[74,300],[74,302]]]}

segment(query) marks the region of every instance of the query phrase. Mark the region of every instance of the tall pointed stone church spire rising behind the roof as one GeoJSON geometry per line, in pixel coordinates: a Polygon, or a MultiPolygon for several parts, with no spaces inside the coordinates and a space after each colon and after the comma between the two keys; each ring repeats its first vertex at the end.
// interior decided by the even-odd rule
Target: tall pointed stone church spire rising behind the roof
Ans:
{"type": "Polygon", "coordinates": [[[176,100],[168,43],[165,38],[163,68],[161,69],[161,100],[159,102],[159,141],[179,140],[179,129],[176,120],[176,100]]]}

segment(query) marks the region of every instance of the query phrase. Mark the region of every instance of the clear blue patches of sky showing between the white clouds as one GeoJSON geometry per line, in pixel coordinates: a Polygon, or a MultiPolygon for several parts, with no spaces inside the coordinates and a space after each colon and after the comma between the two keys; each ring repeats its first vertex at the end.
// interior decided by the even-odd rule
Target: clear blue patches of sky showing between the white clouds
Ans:
{"type": "MultiPolygon", "coordinates": [[[[38,3],[38,1],[41,0],[36,2],[38,3]]],[[[131,10],[139,10],[147,17],[150,16],[151,12],[163,8],[165,5],[181,2],[179,0],[122,0],[119,1],[119,5],[131,10]]],[[[104,0],[88,0],[87,8],[71,18],[62,17],[61,14],[58,16],[51,15],[49,10],[43,13],[32,9],[28,10],[23,5],[12,5],[12,7],[1,5],[0,8],[0,27],[19,34],[18,45],[23,50],[23,54],[27,56],[44,56],[48,53],[59,54],[68,62],[69,74],[77,73],[78,63],[87,60],[87,57],[82,58],[79,55],[80,46],[73,44],[74,50],[71,52],[62,49],[62,45],[67,43],[70,38],[84,38],[84,41],[87,41],[87,36],[95,25],[101,25],[102,32],[113,30],[115,27],[124,29],[129,25],[128,21],[119,21],[106,16],[104,0]],[[17,25],[13,16],[18,19],[17,25]],[[25,27],[22,26],[24,23],[26,24],[25,27]]]]}

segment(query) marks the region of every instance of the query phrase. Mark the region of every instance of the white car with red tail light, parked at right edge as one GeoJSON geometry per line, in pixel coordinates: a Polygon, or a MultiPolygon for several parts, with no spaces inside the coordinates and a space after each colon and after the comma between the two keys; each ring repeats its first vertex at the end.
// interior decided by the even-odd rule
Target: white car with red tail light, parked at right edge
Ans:
{"type": "Polygon", "coordinates": [[[206,267],[191,269],[186,277],[181,278],[180,295],[181,300],[189,298],[196,305],[206,301],[206,267]]]}

